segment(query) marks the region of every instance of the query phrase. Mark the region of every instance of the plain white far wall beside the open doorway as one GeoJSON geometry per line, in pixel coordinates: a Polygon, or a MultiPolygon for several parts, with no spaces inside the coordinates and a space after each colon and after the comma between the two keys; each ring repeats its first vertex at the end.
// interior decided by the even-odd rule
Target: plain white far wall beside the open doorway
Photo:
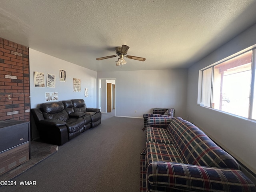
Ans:
{"type": "Polygon", "coordinates": [[[98,72],[98,78],[116,78],[116,116],[142,118],[164,107],[186,117],[186,69],[98,72]]]}

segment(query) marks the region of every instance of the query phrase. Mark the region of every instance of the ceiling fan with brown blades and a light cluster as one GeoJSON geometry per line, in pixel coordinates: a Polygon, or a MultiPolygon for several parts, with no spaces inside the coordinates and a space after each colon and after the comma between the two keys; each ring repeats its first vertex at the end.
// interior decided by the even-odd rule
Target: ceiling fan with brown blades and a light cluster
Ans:
{"type": "MultiPolygon", "coordinates": [[[[124,60],[124,56],[127,54],[128,49],[129,49],[129,47],[127,45],[122,45],[122,47],[116,47],[116,55],[100,57],[100,58],[96,58],[96,60],[108,59],[108,58],[119,56],[118,60],[116,61],[116,65],[124,65],[124,64],[126,64],[126,61],[124,60]]],[[[125,57],[129,58],[129,59],[135,59],[138,61],[146,60],[146,58],[136,57],[136,56],[131,56],[131,55],[126,55],[125,57]]]]}

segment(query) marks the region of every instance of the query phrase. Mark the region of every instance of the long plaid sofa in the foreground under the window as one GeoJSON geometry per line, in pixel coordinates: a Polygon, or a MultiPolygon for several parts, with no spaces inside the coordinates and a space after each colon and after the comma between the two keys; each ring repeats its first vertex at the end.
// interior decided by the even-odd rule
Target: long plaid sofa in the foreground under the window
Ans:
{"type": "Polygon", "coordinates": [[[141,192],[255,192],[238,162],[182,118],[166,128],[146,127],[141,192]]]}

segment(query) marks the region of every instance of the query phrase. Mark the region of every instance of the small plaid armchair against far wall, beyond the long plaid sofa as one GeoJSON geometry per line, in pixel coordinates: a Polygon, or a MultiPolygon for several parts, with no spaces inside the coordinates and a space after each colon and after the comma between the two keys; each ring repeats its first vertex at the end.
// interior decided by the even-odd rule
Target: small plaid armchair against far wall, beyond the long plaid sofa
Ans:
{"type": "Polygon", "coordinates": [[[143,114],[144,128],[154,126],[156,122],[158,122],[158,127],[167,127],[174,114],[174,108],[153,108],[153,113],[143,114]]]}

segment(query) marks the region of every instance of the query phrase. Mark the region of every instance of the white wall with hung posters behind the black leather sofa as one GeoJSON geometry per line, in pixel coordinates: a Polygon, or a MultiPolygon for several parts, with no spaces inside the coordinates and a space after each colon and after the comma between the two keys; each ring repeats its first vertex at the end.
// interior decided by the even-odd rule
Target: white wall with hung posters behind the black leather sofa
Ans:
{"type": "Polygon", "coordinates": [[[88,107],[97,107],[97,72],[55,58],[42,52],[29,49],[30,60],[30,100],[31,108],[36,108],[45,101],[45,92],[58,92],[59,101],[81,98],[88,107]],[[59,70],[66,70],[66,82],[60,82],[59,70]],[[45,84],[47,73],[56,75],[55,88],[34,87],[34,72],[43,72],[45,84]],[[73,78],[81,80],[81,92],[73,92],[73,78]],[[84,96],[84,89],[88,88],[89,96],[84,96]]]}

